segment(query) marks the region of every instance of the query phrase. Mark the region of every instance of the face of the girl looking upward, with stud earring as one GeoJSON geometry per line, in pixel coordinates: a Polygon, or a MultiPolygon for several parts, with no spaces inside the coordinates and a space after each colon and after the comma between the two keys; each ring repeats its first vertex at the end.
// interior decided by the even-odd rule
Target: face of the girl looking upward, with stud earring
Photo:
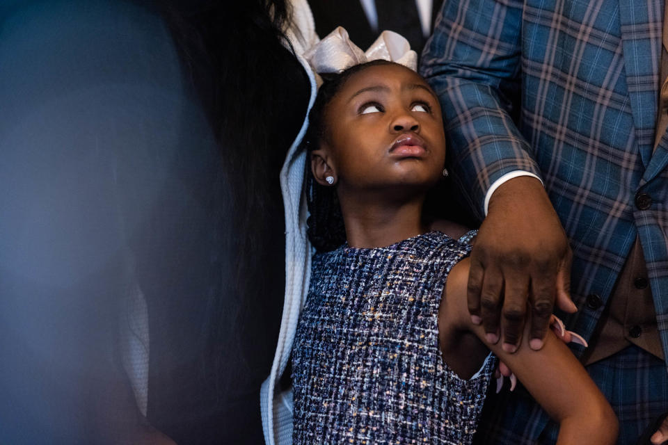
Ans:
{"type": "Polygon", "coordinates": [[[441,177],[445,133],[434,92],[401,65],[353,74],[325,110],[326,133],[312,156],[316,179],[339,192],[426,190],[441,177]],[[329,172],[325,170],[330,169],[329,172]]]}

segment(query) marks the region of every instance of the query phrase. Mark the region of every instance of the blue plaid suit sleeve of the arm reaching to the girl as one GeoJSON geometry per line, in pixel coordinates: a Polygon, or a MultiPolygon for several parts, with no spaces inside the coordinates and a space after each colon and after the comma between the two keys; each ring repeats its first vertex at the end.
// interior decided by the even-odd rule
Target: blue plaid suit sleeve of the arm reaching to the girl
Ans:
{"type": "Polygon", "coordinates": [[[541,176],[513,120],[521,25],[521,1],[445,1],[422,54],[421,74],[443,108],[454,182],[480,219],[495,181],[516,170],[541,176]]]}

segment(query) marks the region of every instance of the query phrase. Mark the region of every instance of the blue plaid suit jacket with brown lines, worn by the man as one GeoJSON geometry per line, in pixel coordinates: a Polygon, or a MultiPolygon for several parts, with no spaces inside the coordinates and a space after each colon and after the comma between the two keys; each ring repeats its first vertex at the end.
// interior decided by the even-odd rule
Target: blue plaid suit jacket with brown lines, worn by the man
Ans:
{"type": "Polygon", "coordinates": [[[653,149],[663,8],[446,0],[421,72],[443,107],[452,176],[479,218],[502,175],[543,179],[573,248],[580,310],[569,328],[589,339],[605,305],[587,296],[607,302],[639,236],[668,352],[668,134],[653,149]],[[642,193],[649,208],[636,204],[642,193]]]}

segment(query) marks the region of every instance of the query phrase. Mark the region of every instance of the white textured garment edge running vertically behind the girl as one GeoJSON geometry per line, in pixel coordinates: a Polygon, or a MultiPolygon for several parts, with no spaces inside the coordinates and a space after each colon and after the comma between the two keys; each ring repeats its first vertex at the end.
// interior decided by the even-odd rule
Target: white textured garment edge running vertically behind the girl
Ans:
{"type": "MultiPolygon", "coordinates": [[[[310,111],[317,87],[315,76],[302,55],[319,41],[315,33],[313,16],[306,0],[292,0],[292,24],[286,35],[292,43],[299,62],[308,74],[311,95],[310,111]]],[[[280,323],[276,355],[271,374],[262,384],[260,407],[262,428],[267,445],[292,444],[292,388],[278,392],[276,383],[285,371],[292,349],[292,341],[303,307],[311,269],[311,245],[306,237],[306,202],[303,193],[303,178],[306,153],[300,149],[301,140],[308,127],[308,112],[299,134],[292,143],[283,169],[280,171],[280,187],[285,206],[285,302],[280,323]]]]}

